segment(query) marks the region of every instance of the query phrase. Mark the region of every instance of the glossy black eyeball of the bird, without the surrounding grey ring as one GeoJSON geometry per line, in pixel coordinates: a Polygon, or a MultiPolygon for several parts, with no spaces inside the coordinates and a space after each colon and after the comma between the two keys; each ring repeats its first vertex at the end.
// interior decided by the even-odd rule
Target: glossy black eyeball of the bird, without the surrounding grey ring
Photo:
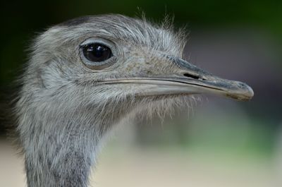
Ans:
{"type": "Polygon", "coordinates": [[[83,49],[83,54],[89,61],[105,61],[111,58],[111,49],[104,44],[87,44],[83,49]]]}

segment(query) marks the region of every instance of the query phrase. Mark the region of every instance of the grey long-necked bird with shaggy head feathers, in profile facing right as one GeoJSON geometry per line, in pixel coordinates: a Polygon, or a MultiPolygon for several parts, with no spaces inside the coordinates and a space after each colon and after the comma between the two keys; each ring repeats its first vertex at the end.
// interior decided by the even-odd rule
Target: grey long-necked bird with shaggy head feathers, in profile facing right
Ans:
{"type": "Polygon", "coordinates": [[[16,131],[28,187],[86,187],[117,123],[185,107],[192,95],[252,98],[245,83],[185,61],[185,32],[121,15],[86,16],[37,36],[21,78],[16,131]]]}

